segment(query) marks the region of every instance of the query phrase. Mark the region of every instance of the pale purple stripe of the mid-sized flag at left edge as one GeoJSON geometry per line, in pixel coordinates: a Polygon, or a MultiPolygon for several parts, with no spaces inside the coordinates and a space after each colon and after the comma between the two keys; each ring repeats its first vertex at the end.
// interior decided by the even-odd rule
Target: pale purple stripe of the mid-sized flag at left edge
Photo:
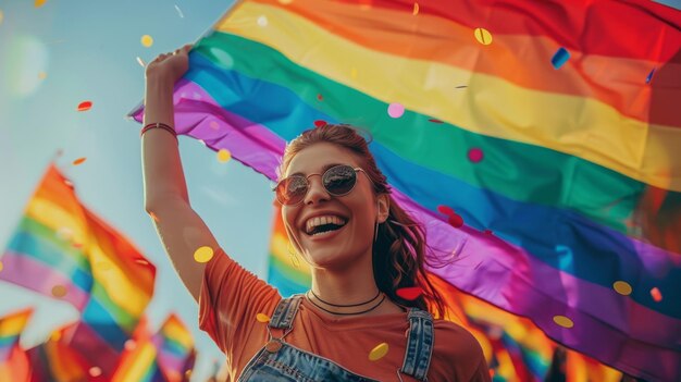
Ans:
{"type": "Polygon", "coordinates": [[[52,288],[57,285],[66,287],[66,295],[59,299],[71,303],[76,309],[82,310],[87,304],[89,293],[73,284],[70,279],[49,268],[35,258],[7,250],[0,258],[3,270],[0,280],[53,297],[52,288]]]}

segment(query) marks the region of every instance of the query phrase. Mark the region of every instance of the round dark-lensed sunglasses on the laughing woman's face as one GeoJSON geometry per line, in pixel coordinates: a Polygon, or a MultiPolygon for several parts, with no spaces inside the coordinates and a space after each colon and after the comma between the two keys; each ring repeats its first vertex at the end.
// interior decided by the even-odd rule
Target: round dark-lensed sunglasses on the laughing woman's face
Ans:
{"type": "MultiPolygon", "coordinates": [[[[322,185],[333,196],[347,195],[357,184],[358,171],[364,172],[360,168],[347,164],[334,165],[322,174],[322,185]]],[[[308,176],[296,174],[281,180],[272,189],[276,193],[276,200],[284,206],[295,206],[301,202],[310,189],[309,177],[312,175],[320,174],[308,176]]]]}

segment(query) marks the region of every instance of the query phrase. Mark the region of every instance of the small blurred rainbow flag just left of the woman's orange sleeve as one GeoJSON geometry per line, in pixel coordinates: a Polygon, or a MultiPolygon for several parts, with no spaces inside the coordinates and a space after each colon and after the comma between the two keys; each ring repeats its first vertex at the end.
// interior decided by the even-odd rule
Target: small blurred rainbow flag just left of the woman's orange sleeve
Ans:
{"type": "Polygon", "coordinates": [[[171,313],[151,340],[158,349],[157,362],[170,382],[188,380],[187,370],[194,368],[196,352],[191,332],[182,320],[171,313]]]}

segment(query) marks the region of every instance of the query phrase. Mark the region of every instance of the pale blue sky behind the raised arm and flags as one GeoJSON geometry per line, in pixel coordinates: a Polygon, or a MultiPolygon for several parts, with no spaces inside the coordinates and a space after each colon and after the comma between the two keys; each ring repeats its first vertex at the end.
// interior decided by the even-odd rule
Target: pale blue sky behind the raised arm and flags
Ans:
{"type": "MultiPolygon", "coordinates": [[[[144,95],[145,62],[194,42],[232,1],[0,2],[0,246],[4,248],[48,163],[57,159],[81,200],[123,232],[156,263],[148,316],[156,330],[175,311],[200,352],[195,378],[203,380],[222,355],[197,325],[197,305],[182,285],[144,210],[139,128],[125,119],[144,95]],[[140,44],[150,35],[153,45],[140,44]],[[42,77],[40,73],[42,74],[42,77]],[[82,101],[92,108],[77,112],[82,101]],[[87,161],[78,167],[71,162],[87,161]]],[[[221,246],[267,278],[272,222],[270,183],[236,161],[220,163],[200,143],[179,137],[191,205],[221,246]]],[[[37,307],[24,346],[45,340],[77,318],[71,306],[0,282],[0,316],[37,307]]]]}

